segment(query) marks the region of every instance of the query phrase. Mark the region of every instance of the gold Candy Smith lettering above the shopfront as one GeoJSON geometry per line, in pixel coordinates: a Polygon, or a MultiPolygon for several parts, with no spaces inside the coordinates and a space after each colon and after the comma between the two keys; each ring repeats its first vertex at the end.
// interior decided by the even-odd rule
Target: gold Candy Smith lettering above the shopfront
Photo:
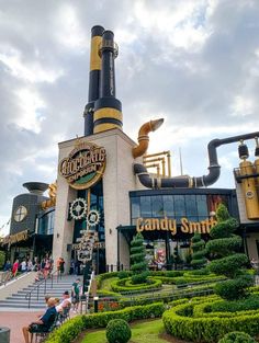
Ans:
{"type": "MultiPolygon", "coordinates": [[[[182,233],[210,233],[211,228],[216,224],[216,220],[211,217],[202,221],[189,221],[187,218],[181,218],[180,231],[182,233]]],[[[137,218],[137,232],[143,231],[170,231],[172,236],[177,235],[177,220],[170,218],[137,218]]]]}

